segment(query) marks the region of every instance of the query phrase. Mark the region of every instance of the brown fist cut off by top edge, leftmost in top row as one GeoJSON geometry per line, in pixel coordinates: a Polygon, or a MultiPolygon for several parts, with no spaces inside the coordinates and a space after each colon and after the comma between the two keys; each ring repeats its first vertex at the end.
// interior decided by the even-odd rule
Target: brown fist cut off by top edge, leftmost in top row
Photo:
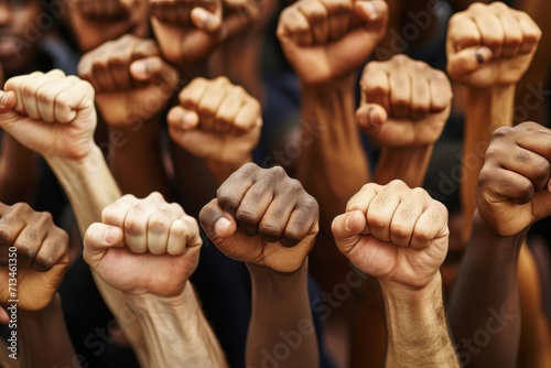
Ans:
{"type": "Polygon", "coordinates": [[[82,52],[123,34],[148,36],[148,0],[74,0],[69,2],[72,30],[82,52]]]}

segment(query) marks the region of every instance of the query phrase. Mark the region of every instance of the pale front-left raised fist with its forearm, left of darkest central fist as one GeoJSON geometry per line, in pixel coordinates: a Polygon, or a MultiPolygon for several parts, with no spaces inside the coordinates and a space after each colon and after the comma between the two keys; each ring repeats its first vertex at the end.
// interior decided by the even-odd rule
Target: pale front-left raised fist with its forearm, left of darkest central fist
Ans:
{"type": "Polygon", "coordinates": [[[149,366],[226,366],[188,282],[202,245],[197,221],[159,193],[126,195],[101,221],[86,232],[84,259],[137,316],[149,366]]]}

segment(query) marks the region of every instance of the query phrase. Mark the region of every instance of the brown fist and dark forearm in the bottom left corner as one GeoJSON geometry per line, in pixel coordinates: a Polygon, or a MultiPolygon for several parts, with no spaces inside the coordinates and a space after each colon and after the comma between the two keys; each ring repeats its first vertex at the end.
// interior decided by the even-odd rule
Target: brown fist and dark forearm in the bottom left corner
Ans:
{"type": "MultiPolygon", "coordinates": [[[[75,351],[56,294],[68,266],[68,236],[54,225],[50,214],[34,212],[24,203],[0,204],[0,283],[6,285],[0,292],[0,305],[11,314],[10,300],[19,300],[18,358],[23,367],[71,364],[75,351]],[[12,247],[17,258],[11,257],[12,247]],[[11,289],[8,285],[13,270],[18,283],[11,289]]],[[[7,314],[0,320],[9,322],[7,314]]]]}

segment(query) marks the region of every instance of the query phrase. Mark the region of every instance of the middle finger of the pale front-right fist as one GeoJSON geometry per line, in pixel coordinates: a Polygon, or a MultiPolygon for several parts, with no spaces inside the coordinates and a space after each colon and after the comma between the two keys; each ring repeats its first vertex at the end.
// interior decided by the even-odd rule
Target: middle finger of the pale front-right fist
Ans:
{"type": "MultiPolygon", "coordinates": [[[[424,212],[424,192],[415,188],[408,197],[403,198],[396,209],[390,223],[390,240],[399,247],[409,247],[415,224],[424,212]]],[[[424,193],[425,194],[425,193],[424,193]]]]}

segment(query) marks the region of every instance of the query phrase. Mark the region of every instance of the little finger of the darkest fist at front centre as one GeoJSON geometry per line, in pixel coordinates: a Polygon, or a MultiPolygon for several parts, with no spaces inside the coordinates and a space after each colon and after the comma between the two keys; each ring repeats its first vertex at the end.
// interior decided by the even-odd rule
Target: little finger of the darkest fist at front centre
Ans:
{"type": "MultiPolygon", "coordinates": [[[[307,235],[317,234],[318,217],[317,202],[313,197],[309,196],[307,201],[296,204],[287,221],[281,245],[288,248],[294,247],[307,235]]],[[[284,220],[284,217],[282,219],[284,220]]]]}

